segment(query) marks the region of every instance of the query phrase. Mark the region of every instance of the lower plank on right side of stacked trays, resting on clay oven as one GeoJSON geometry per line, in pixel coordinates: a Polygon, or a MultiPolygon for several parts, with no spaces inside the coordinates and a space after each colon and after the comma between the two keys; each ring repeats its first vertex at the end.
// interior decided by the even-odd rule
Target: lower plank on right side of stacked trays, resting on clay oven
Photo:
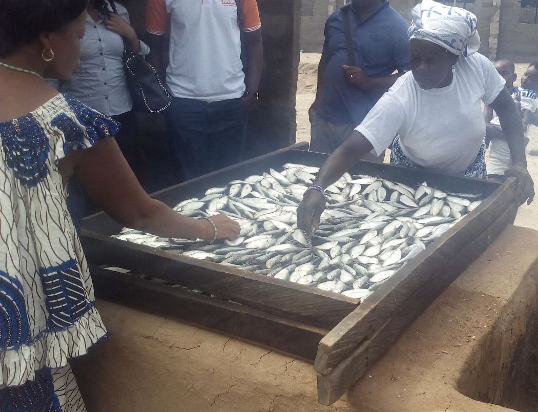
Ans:
{"type": "Polygon", "coordinates": [[[369,339],[364,340],[352,353],[328,374],[317,375],[318,402],[331,405],[336,402],[397,340],[401,332],[512,222],[514,205],[485,231],[461,250],[460,259],[447,264],[406,301],[406,310],[395,311],[369,339]]]}

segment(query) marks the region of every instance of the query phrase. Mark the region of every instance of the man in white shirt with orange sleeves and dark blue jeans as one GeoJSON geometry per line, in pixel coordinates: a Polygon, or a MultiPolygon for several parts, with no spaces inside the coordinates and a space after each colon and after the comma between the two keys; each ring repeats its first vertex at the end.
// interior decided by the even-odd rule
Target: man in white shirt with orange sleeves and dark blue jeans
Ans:
{"type": "Polygon", "coordinates": [[[167,124],[180,177],[192,179],[237,163],[263,65],[256,0],[148,0],[146,19],[158,70],[162,39],[170,31],[166,83],[173,102],[167,124]]]}

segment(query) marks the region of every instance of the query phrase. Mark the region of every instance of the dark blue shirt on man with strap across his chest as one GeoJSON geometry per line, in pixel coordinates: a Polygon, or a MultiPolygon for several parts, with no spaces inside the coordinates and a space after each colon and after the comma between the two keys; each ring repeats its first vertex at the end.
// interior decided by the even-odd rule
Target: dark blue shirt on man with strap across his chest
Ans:
{"type": "MultiPolygon", "coordinates": [[[[317,114],[331,123],[360,124],[383,95],[383,90],[362,90],[351,86],[342,73],[349,65],[342,10],[325,23],[323,53],[329,57],[323,89],[322,106],[317,114]]],[[[388,1],[361,22],[351,6],[350,31],[358,67],[370,77],[390,76],[395,69],[408,72],[409,24],[388,1]]]]}

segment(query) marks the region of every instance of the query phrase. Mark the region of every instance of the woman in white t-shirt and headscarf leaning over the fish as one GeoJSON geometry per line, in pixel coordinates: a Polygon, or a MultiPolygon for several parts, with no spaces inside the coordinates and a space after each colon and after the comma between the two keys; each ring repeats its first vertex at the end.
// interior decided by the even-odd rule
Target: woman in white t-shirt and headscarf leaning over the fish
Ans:
{"type": "Polygon", "coordinates": [[[411,72],[381,97],[351,136],[325,161],[298,210],[299,228],[312,233],[325,207],[323,188],[366,153],[393,142],[391,164],[487,178],[481,102],[497,112],[518,177],[518,200],[530,203],[534,184],[527,171],[521,119],[505,81],[480,47],[476,16],[423,0],[409,28],[411,72]],[[315,189],[315,190],[310,190],[315,189]]]}

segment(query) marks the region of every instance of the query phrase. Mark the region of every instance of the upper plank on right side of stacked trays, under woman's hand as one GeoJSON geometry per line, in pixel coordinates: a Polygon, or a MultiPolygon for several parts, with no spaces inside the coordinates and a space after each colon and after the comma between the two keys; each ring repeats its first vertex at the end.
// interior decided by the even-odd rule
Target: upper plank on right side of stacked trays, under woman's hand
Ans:
{"type": "MultiPolygon", "coordinates": [[[[470,212],[470,219],[464,219],[435,240],[332,329],[318,347],[316,371],[328,374],[360,342],[376,333],[432,273],[440,271],[456,253],[461,253],[462,246],[470,243],[469,238],[482,233],[495,219],[512,210],[515,186],[515,179],[507,179],[483,204],[470,212]]],[[[454,278],[458,274],[454,273],[454,278]]]]}

